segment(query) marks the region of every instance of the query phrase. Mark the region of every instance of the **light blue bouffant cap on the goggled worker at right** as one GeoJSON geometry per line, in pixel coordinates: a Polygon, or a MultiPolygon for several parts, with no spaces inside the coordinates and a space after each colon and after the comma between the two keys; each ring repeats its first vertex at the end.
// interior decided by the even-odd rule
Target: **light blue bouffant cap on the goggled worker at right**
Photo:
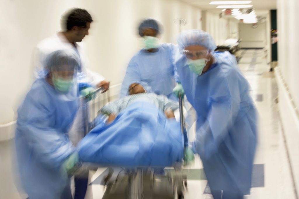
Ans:
{"type": "Polygon", "coordinates": [[[191,45],[200,45],[206,47],[208,50],[215,50],[216,44],[214,39],[209,33],[203,30],[187,30],[182,32],[178,39],[180,51],[184,50],[185,47],[191,45]]]}

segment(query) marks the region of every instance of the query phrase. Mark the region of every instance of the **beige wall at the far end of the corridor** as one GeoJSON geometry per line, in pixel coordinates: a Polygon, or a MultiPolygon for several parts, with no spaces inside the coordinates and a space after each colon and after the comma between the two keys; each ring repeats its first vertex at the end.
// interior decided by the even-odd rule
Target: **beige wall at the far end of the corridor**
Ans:
{"type": "Polygon", "coordinates": [[[258,24],[252,28],[252,24],[239,23],[239,37],[243,48],[264,48],[266,47],[266,23],[258,24]]]}

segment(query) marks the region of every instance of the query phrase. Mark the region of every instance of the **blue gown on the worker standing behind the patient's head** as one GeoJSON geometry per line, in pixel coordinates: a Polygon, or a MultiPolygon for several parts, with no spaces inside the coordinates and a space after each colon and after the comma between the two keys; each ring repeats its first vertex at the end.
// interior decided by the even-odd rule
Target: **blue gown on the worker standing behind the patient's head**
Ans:
{"type": "Polygon", "coordinates": [[[140,50],[131,59],[121,86],[120,97],[128,95],[129,85],[135,81],[146,82],[157,95],[166,95],[177,100],[172,94],[176,81],[173,51],[178,48],[174,44],[161,44],[158,51],[150,53],[140,50]]]}

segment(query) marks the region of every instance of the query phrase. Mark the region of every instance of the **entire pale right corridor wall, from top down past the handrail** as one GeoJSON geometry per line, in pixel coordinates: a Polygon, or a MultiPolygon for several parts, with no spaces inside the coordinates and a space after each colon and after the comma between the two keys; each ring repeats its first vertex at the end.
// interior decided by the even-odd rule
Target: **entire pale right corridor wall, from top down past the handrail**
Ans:
{"type": "Polygon", "coordinates": [[[299,1],[277,0],[279,108],[296,188],[299,189],[299,1]],[[279,76],[280,75],[280,76],[279,76]]]}

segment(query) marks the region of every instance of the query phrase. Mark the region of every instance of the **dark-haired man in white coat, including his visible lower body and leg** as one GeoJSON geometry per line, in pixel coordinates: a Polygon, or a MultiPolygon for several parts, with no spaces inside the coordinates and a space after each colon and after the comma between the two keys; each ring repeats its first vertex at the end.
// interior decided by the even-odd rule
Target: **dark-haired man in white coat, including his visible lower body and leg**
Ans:
{"type": "MultiPolygon", "coordinates": [[[[103,76],[90,71],[87,68],[87,58],[83,51],[83,45],[80,43],[85,36],[89,34],[89,28],[92,22],[91,15],[84,9],[74,8],[68,10],[61,18],[62,32],[58,32],[52,37],[42,40],[36,47],[35,55],[35,76],[43,78],[48,70],[45,67],[45,57],[55,50],[69,49],[78,54],[80,65],[78,68],[77,81],[79,84],[80,95],[87,96],[94,91],[94,88],[103,88],[103,91],[109,89],[109,81],[103,76]]],[[[84,118],[83,101],[80,102],[80,109],[75,118],[74,126],[70,131],[70,138],[73,144],[84,137],[84,118]]],[[[88,183],[88,171],[83,178],[75,177],[75,199],[83,199],[86,194],[88,183]]]]}

